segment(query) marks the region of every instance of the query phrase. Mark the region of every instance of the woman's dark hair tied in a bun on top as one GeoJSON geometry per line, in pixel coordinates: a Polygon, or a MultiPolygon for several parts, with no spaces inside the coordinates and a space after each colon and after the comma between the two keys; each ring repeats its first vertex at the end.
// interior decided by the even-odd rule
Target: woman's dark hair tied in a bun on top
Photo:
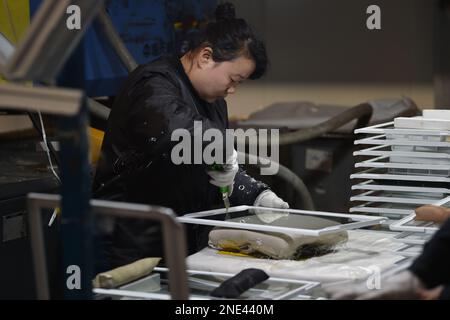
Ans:
{"type": "Polygon", "coordinates": [[[204,25],[197,37],[191,40],[190,50],[210,46],[216,62],[248,57],[255,62],[255,70],[249,78],[260,78],[266,72],[268,63],[264,43],[256,38],[244,19],[236,18],[231,3],[218,5],[215,17],[215,21],[204,25]]]}

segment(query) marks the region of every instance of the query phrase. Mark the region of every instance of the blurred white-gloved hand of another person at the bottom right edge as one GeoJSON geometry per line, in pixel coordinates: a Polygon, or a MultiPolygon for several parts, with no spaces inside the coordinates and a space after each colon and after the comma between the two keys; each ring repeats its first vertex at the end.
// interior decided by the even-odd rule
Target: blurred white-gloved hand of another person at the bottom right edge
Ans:
{"type": "Polygon", "coordinates": [[[323,288],[328,297],[337,300],[399,300],[437,299],[442,290],[426,289],[419,278],[405,270],[382,279],[379,289],[369,289],[366,281],[361,283],[329,285],[323,288]]]}

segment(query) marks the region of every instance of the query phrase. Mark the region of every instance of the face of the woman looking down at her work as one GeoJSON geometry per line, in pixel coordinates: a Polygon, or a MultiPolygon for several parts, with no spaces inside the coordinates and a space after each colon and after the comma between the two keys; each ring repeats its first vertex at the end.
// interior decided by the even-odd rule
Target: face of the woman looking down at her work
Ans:
{"type": "Polygon", "coordinates": [[[188,76],[199,96],[212,103],[233,94],[237,85],[246,80],[254,70],[255,63],[245,56],[215,62],[211,48],[207,47],[194,58],[194,66],[188,76]]]}

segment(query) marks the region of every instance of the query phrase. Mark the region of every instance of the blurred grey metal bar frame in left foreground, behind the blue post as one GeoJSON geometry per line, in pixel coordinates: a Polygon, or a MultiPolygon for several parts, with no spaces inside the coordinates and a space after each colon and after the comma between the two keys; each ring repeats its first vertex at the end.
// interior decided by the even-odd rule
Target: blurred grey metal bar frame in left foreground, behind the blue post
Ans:
{"type": "MultiPolygon", "coordinates": [[[[61,196],[52,194],[28,194],[30,241],[33,253],[34,270],[38,299],[49,299],[46,254],[42,232],[42,209],[60,206],[61,196]]],[[[164,237],[164,252],[169,269],[171,296],[173,299],[188,299],[189,291],[186,277],[186,240],[183,225],[169,208],[135,203],[90,200],[93,214],[156,220],[161,222],[164,237]]],[[[84,273],[81,273],[82,276],[84,273]]],[[[88,279],[89,282],[92,279],[88,279]]]]}

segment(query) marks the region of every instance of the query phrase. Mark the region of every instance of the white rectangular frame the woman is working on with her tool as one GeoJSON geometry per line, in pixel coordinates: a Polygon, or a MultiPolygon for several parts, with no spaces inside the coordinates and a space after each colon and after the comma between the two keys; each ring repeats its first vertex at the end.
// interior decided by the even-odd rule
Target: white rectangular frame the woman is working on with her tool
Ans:
{"type": "Polygon", "coordinates": [[[324,234],[335,233],[343,230],[351,230],[357,229],[367,226],[373,226],[383,223],[386,218],[384,217],[373,217],[373,216],[365,216],[365,215],[354,215],[354,214],[344,214],[344,213],[332,213],[332,212],[323,212],[323,211],[307,211],[307,210],[298,210],[298,209],[275,209],[275,208],[265,208],[265,207],[254,207],[254,206],[237,206],[231,207],[228,210],[216,209],[216,210],[208,210],[196,213],[186,214],[182,217],[177,218],[178,221],[183,223],[191,223],[191,224],[200,224],[200,225],[209,225],[209,226],[220,226],[220,227],[228,227],[228,228],[236,228],[236,229],[246,229],[246,230],[256,230],[256,231],[267,231],[267,232],[288,232],[290,234],[297,235],[307,235],[307,236],[320,236],[324,234]],[[251,223],[239,223],[232,221],[219,221],[219,220],[208,220],[202,219],[205,217],[211,217],[215,215],[221,214],[230,214],[233,212],[240,212],[245,210],[258,210],[268,211],[268,212],[279,212],[279,213],[289,213],[289,214],[299,214],[299,215],[313,215],[313,216],[321,216],[321,217],[338,217],[338,218],[347,218],[351,222],[347,224],[341,224],[337,226],[326,227],[322,229],[301,229],[301,228],[289,228],[289,227],[278,227],[278,226],[269,226],[269,225],[258,225],[251,223]]]}

